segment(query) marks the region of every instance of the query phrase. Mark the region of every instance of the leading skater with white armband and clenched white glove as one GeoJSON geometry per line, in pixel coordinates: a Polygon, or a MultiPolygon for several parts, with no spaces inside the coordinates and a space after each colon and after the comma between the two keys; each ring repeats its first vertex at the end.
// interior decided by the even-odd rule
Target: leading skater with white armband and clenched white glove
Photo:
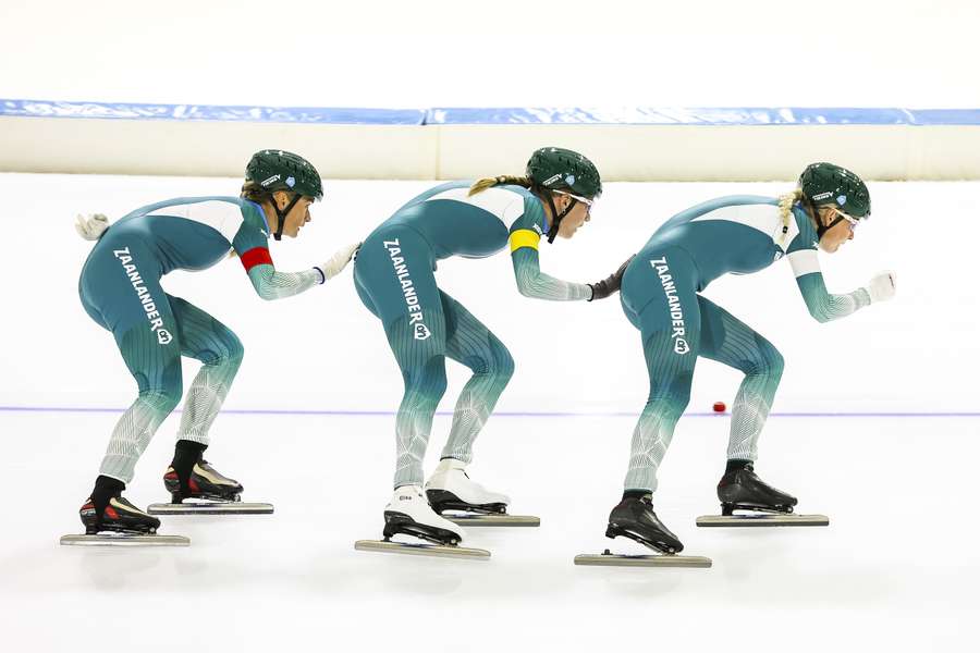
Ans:
{"type": "Polygon", "coordinates": [[[664,223],[622,279],[621,301],[640,331],[650,394],[633,435],[625,492],[607,535],[625,535],[664,553],[681,541],[653,513],[657,468],[687,406],[699,356],[733,367],[745,379],[732,408],[727,466],[718,485],[723,515],[736,509],[791,513],[796,498],[756,475],[759,433],[783,372],[783,357],[750,326],[702,297],[722,274],[748,274],[785,257],[810,315],[820,322],[891,298],[895,275],[884,272],[846,295],[828,293],[817,257],[854,238],[868,219],[865,183],[831,163],[813,163],[798,188],[779,198],[733,196],[698,205],[664,223]]]}

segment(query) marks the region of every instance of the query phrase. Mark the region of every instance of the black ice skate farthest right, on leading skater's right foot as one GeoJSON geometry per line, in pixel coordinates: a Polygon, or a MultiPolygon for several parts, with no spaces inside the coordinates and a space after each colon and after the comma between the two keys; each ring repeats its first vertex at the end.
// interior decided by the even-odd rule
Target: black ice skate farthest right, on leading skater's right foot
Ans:
{"type": "Polygon", "coordinates": [[[794,515],[796,497],[767,484],[751,463],[730,464],[718,483],[722,514],[698,517],[701,527],[828,526],[824,515],[794,515]],[[748,515],[735,515],[735,510],[748,515]]]}

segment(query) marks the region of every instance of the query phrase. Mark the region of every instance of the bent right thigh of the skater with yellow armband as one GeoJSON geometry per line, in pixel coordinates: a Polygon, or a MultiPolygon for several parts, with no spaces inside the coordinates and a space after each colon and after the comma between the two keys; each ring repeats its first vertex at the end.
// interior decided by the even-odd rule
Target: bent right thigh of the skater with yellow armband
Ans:
{"type": "Polygon", "coordinates": [[[513,370],[514,359],[493,332],[444,291],[440,291],[445,315],[445,355],[477,373],[513,370]]]}

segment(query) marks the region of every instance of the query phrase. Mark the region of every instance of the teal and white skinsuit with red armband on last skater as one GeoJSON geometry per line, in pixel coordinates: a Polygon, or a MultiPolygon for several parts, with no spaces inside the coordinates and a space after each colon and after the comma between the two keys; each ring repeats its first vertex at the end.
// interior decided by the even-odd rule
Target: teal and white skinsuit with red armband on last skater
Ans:
{"type": "Polygon", "coordinates": [[[168,295],[160,278],[204,270],[238,255],[264,299],[322,282],[316,269],[275,271],[261,207],[237,197],[161,201],[112,224],[93,247],[78,281],[82,305],[112,332],[139,394],[117,423],[100,473],[128,483],[160,422],[181,401],[181,356],[204,366],[191,389],[179,440],[208,444],[215,420],[242,362],[242,343],[228,326],[191,303],[168,295]]]}

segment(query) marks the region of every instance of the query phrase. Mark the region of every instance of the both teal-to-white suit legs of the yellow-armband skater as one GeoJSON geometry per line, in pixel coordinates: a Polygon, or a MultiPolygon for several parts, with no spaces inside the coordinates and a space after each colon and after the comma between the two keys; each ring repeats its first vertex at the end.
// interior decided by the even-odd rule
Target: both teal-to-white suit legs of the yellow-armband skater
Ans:
{"type": "Polygon", "coordinates": [[[503,343],[438,288],[433,263],[431,249],[415,231],[395,226],[369,237],[354,266],[357,293],[381,319],[405,386],[395,418],[396,488],[424,482],[432,418],[445,394],[446,357],[474,372],[456,402],[442,452],[465,463],[514,371],[503,343]],[[409,301],[419,310],[409,311],[409,301]]]}

